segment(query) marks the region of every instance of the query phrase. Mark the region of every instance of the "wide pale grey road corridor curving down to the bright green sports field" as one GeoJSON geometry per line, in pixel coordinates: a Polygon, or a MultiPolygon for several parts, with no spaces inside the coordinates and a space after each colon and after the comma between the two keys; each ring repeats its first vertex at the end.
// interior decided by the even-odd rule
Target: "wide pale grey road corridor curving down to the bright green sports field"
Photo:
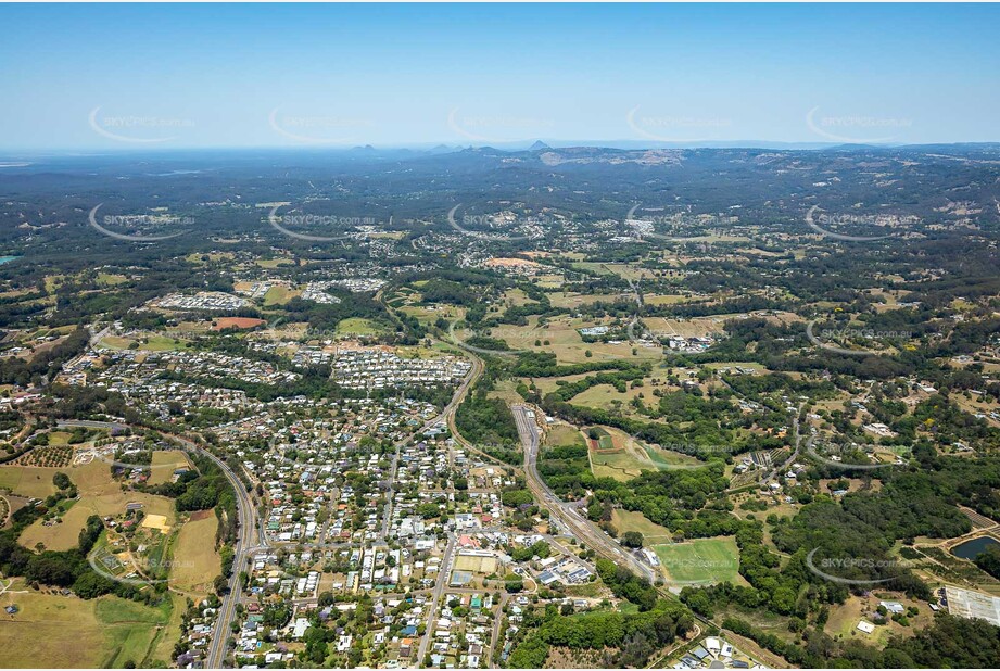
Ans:
{"type": "Polygon", "coordinates": [[[524,405],[512,405],[510,409],[514,413],[514,420],[517,422],[521,444],[524,447],[524,476],[528,489],[531,490],[539,503],[548,510],[548,514],[554,519],[567,527],[577,539],[598,555],[610,559],[619,566],[628,567],[632,572],[651,583],[656,582],[657,574],[651,567],[612,541],[604,531],[560,501],[548,489],[548,485],[539,476],[537,458],[541,438],[537,422],[530,415],[534,410],[524,405]]]}

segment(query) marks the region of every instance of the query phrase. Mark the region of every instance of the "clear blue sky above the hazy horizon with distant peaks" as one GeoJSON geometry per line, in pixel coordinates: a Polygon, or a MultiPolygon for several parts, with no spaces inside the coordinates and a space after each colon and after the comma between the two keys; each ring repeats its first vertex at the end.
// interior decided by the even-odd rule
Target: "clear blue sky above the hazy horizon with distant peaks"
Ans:
{"type": "Polygon", "coordinates": [[[1000,141],[997,5],[0,5],[0,150],[1000,141]]]}

